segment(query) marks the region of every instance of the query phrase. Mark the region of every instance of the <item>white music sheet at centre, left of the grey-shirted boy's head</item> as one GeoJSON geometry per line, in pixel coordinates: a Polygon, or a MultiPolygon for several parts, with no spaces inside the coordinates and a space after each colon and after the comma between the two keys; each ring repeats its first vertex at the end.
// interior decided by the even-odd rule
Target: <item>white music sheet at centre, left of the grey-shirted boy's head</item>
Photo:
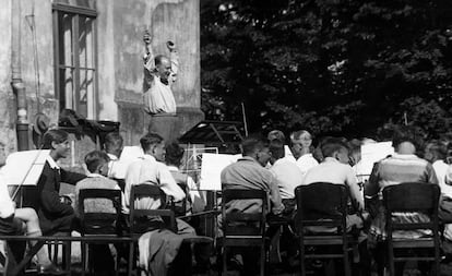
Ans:
{"type": "Polygon", "coordinates": [[[200,190],[221,191],[222,170],[240,157],[241,155],[202,154],[200,190]]]}

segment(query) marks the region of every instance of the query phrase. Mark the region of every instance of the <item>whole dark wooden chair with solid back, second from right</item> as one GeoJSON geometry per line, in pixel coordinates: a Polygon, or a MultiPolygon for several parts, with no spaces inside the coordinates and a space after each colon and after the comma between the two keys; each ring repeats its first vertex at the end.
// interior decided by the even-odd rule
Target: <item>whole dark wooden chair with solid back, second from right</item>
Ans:
{"type": "Polygon", "coordinates": [[[300,185],[295,189],[297,216],[295,225],[299,238],[300,269],[306,275],[306,259],[342,259],[344,274],[350,275],[349,253],[358,252],[358,239],[346,232],[347,188],[343,184],[325,182],[300,185]],[[312,231],[312,227],[330,228],[331,231],[312,231]],[[331,229],[332,228],[332,229],[331,229]],[[335,228],[335,229],[334,229],[335,228]],[[306,248],[317,251],[321,248],[341,247],[340,252],[307,253],[306,248]]]}

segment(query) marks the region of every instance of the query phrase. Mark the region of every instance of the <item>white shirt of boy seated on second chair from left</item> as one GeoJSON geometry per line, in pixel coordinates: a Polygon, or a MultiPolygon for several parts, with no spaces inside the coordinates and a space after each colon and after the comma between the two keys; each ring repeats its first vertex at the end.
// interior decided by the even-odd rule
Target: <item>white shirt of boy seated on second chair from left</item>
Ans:
{"type": "MultiPolygon", "coordinates": [[[[127,169],[124,189],[127,207],[130,206],[129,201],[132,185],[142,183],[158,185],[166,195],[173,196],[176,202],[186,197],[186,193],[176,183],[168,167],[165,164],[157,161],[154,156],[147,154],[130,164],[127,169]]],[[[159,205],[160,201],[153,199],[141,199],[135,202],[135,206],[143,209],[155,209],[158,208],[159,205]]]]}

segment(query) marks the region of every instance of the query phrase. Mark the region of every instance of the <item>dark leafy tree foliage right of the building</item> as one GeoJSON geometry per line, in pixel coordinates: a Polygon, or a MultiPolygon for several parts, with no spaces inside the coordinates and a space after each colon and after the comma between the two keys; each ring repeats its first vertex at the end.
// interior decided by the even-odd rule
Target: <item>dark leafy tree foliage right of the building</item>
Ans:
{"type": "Polygon", "coordinates": [[[253,132],[452,124],[450,0],[202,0],[202,108],[253,132]]]}

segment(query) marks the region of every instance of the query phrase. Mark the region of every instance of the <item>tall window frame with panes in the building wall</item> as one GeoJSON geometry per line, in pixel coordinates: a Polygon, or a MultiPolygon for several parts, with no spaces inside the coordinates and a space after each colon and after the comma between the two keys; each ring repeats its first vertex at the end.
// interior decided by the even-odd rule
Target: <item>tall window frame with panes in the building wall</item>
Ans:
{"type": "Polygon", "coordinates": [[[93,72],[93,81],[94,81],[94,92],[93,92],[93,97],[92,99],[87,99],[86,100],[86,105],[87,108],[90,107],[88,101],[93,100],[93,118],[90,117],[90,108],[87,110],[87,119],[97,119],[98,113],[97,113],[97,106],[98,106],[98,101],[99,101],[99,97],[98,97],[98,52],[97,52],[97,11],[93,10],[93,9],[88,9],[88,8],[83,8],[83,7],[74,7],[74,5],[67,5],[67,4],[60,4],[60,3],[52,3],[52,29],[53,29],[53,77],[55,77],[55,96],[58,99],[58,104],[59,104],[59,111],[61,111],[62,109],[67,108],[66,106],[61,106],[61,93],[66,93],[62,92],[60,89],[60,70],[61,69],[68,69],[71,68],[73,70],[72,73],[72,77],[73,77],[73,89],[72,89],[72,96],[75,100],[75,103],[73,104],[74,111],[79,112],[80,111],[80,95],[81,95],[81,70],[91,70],[93,72]],[[59,15],[61,13],[66,13],[66,14],[71,14],[73,15],[72,17],[72,38],[71,38],[71,55],[72,55],[72,59],[73,59],[73,63],[72,65],[68,65],[68,64],[60,64],[60,45],[59,45],[59,15]],[[79,43],[79,26],[80,26],[80,16],[86,16],[90,17],[93,21],[93,68],[90,68],[85,64],[84,68],[80,67],[80,55],[79,55],[79,49],[80,49],[80,43],[79,43]]]}

